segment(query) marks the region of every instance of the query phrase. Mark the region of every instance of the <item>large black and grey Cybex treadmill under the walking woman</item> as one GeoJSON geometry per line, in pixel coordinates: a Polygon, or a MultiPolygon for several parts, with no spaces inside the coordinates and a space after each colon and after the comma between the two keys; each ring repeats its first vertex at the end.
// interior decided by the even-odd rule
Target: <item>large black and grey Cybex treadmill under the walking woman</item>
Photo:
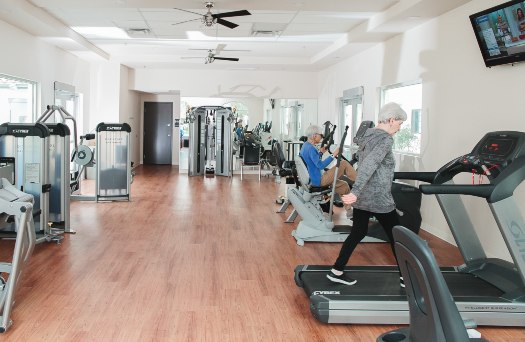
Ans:
{"type": "MultiPolygon", "coordinates": [[[[455,158],[437,172],[398,173],[425,181],[445,215],[464,264],[441,271],[464,320],[477,325],[525,326],[525,222],[513,198],[525,179],[525,133],[487,133],[471,153],[455,158]],[[459,173],[486,176],[490,184],[454,184],[459,173]],[[461,200],[484,198],[513,262],[488,258],[461,200]]],[[[406,293],[397,266],[350,266],[353,286],[326,278],[331,266],[299,265],[295,282],[310,297],[310,309],[325,323],[408,324],[406,293]]]]}

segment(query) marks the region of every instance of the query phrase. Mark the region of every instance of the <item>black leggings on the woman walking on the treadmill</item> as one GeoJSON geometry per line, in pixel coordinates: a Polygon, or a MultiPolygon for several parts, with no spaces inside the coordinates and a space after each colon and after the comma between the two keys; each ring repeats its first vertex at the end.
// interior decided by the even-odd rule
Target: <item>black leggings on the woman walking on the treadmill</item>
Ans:
{"type": "Polygon", "coordinates": [[[368,233],[368,222],[370,220],[370,217],[372,216],[374,216],[379,221],[379,223],[385,230],[385,233],[388,236],[388,239],[390,240],[390,247],[392,248],[392,253],[394,253],[395,257],[396,251],[394,250],[394,236],[392,235],[392,229],[394,228],[394,226],[399,224],[399,217],[397,216],[395,209],[385,214],[373,213],[370,211],[356,208],[354,208],[353,210],[354,216],[352,218],[352,221],[354,222],[354,225],[352,227],[352,230],[350,231],[350,235],[348,235],[345,242],[343,242],[343,246],[341,247],[339,256],[335,261],[334,269],[338,271],[344,270],[346,264],[348,263],[348,260],[350,259],[350,256],[352,255],[354,249],[357,247],[357,244],[361,242],[361,240],[363,240],[363,238],[368,233]]]}

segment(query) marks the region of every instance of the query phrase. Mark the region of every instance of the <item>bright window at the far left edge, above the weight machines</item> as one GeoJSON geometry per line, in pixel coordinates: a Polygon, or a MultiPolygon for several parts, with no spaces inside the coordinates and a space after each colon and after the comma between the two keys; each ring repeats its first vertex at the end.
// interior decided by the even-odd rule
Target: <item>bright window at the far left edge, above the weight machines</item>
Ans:
{"type": "Polygon", "coordinates": [[[0,74],[0,124],[35,122],[37,83],[0,74]]]}

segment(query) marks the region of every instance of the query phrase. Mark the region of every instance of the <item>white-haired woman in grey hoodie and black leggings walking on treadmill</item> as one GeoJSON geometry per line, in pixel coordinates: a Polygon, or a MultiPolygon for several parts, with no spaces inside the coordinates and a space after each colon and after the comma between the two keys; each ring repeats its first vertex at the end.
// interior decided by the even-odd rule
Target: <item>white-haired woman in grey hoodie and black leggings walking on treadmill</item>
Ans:
{"type": "MultiPolygon", "coordinates": [[[[341,196],[343,203],[354,208],[353,227],[346,238],[339,256],[327,278],[333,282],[354,285],[357,280],[343,273],[352,252],[368,232],[368,221],[374,216],[390,239],[392,252],[394,237],[392,229],[399,224],[392,197],[395,159],[392,152],[393,135],[407,119],[405,111],[397,103],[387,103],[379,110],[379,123],[368,129],[357,144],[359,172],[349,194],[341,196]]],[[[401,286],[404,287],[403,279],[401,286]]]]}

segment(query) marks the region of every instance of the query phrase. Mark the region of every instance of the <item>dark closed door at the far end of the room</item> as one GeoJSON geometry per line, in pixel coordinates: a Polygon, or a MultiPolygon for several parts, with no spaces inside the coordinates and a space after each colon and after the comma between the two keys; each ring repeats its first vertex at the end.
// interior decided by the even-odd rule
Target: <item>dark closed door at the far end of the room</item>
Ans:
{"type": "Polygon", "coordinates": [[[171,164],[172,125],[172,102],[144,102],[144,164],[171,164]]]}

